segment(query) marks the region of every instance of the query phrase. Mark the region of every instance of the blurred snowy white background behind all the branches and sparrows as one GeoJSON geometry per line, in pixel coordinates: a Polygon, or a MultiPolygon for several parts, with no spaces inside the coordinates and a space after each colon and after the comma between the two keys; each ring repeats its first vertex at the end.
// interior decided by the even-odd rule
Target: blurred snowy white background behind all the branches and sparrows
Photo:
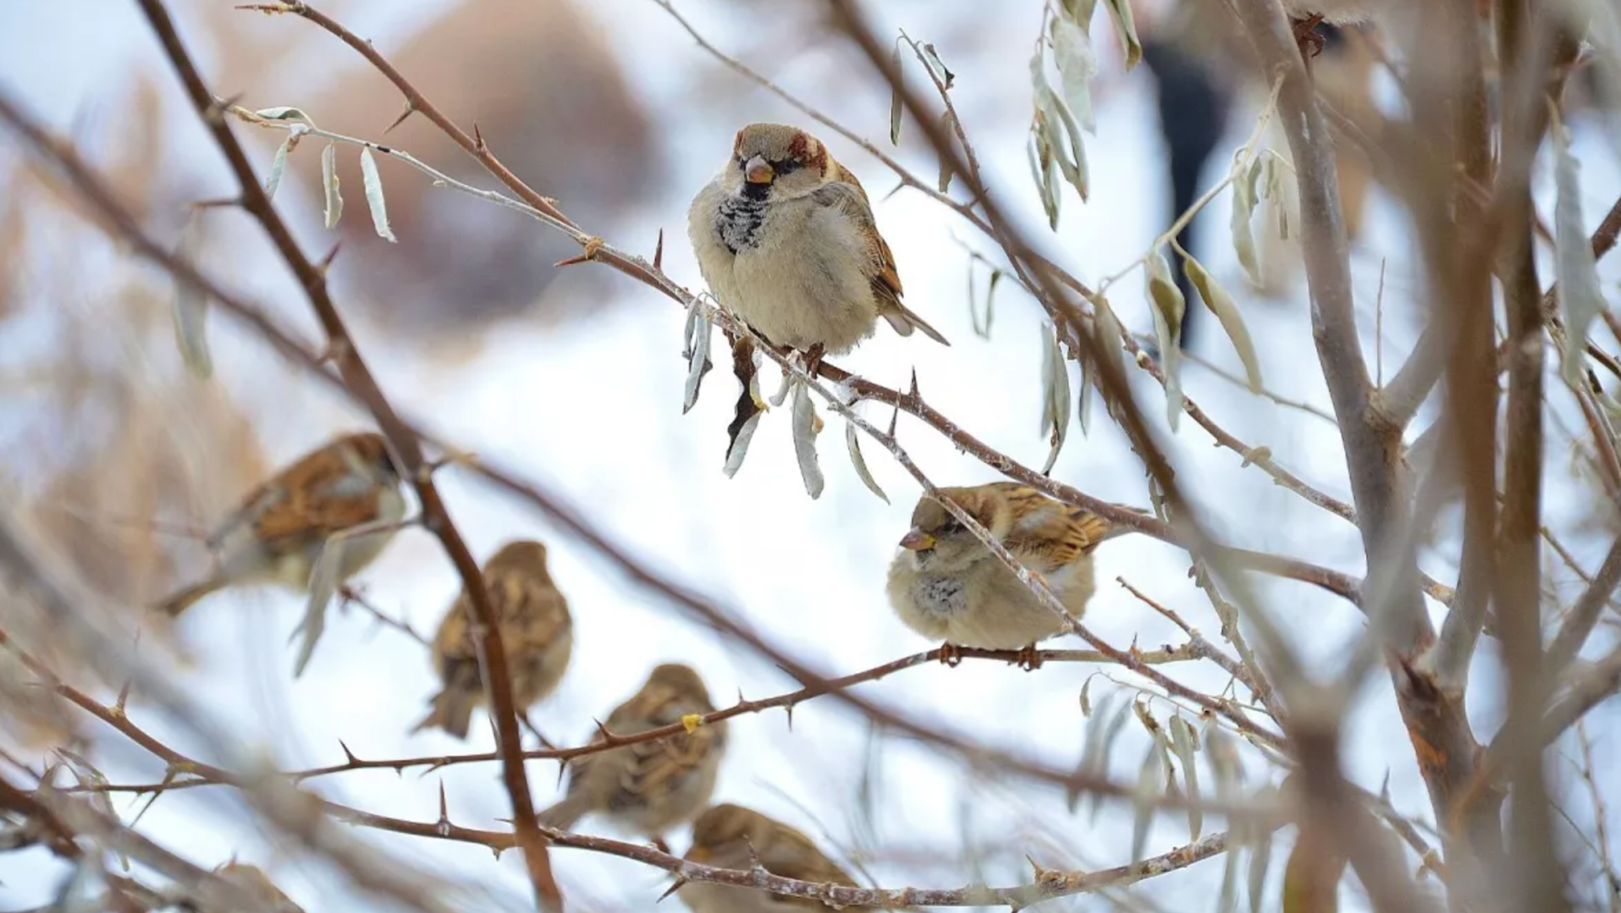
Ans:
{"type": "MultiPolygon", "coordinates": [[[[1122,73],[1107,26],[1094,28],[1102,73],[1096,84],[1097,135],[1088,138],[1093,196],[1083,204],[1065,188],[1060,230],[1049,235],[1024,156],[1026,65],[1042,21],[1041,3],[1010,0],[997,3],[994,15],[974,0],[866,6],[880,34],[905,28],[939,47],[956,75],[958,112],[999,199],[1083,281],[1122,269],[1164,229],[1169,186],[1154,83],[1144,68],[1122,73]]],[[[692,289],[700,281],[686,243],[686,204],[725,161],[733,131],[752,120],[814,126],[716,63],[650,0],[345,0],[324,10],[371,39],[460,125],[477,122],[514,172],[556,196],[588,230],[647,256],[663,230],[665,269],[692,289]]],[[[848,45],[807,41],[819,36],[809,5],[686,0],[679,10],[718,47],[887,148],[888,91],[848,45]]],[[[242,92],[246,107],[297,105],[321,126],[368,138],[379,138],[399,112],[397,96],[365,62],[308,23],[233,11],[217,2],[177,2],[173,15],[212,88],[242,92]]],[[[1144,15],[1144,32],[1151,26],[1144,15]]],[[[909,73],[921,79],[914,63],[908,60],[909,73]]],[[[1230,151],[1248,136],[1264,101],[1264,91],[1238,66],[1230,76],[1238,83],[1237,104],[1201,186],[1225,172],[1230,151]]],[[[1391,88],[1378,75],[1373,86],[1375,97],[1389,104],[1391,88]]],[[[229,193],[217,151],[183,104],[133,5],[0,5],[0,88],[70,135],[169,242],[178,238],[186,203],[229,193]]],[[[1621,191],[1621,172],[1610,128],[1595,115],[1584,115],[1574,128],[1592,225],[1621,191]]],[[[976,336],[964,245],[992,255],[990,242],[922,195],[890,195],[895,180],[882,164],[825,130],[812,131],[872,193],[908,303],[953,341],[943,349],[880,331],[835,362],[888,386],[903,386],[916,368],[930,404],[990,446],[1039,465],[1047,451],[1039,409],[1039,308],[1003,284],[989,339],[976,336]]],[[[237,133],[266,169],[280,135],[248,126],[237,126],[237,133]]],[[[387,143],[494,186],[421,118],[391,133],[387,143]]],[[[358,188],[353,149],[340,152],[347,152],[340,157],[350,169],[345,186],[358,188]]],[[[906,130],[893,154],[926,178],[937,170],[916,130],[906,130]]],[[[305,250],[316,256],[336,240],[321,227],[318,157],[314,143],[302,146],[277,195],[305,250]]],[[[725,478],[720,467],[734,383],[721,366],[707,378],[699,405],[681,415],[686,366],[679,308],[603,268],[553,269],[550,263],[574,253],[564,238],[517,214],[433,190],[397,162],[384,161],[381,169],[400,245],[371,237],[358,193],[352,193],[352,211],[337,230],[344,250],[334,279],[361,352],[402,412],[425,417],[464,449],[566,493],[634,553],[736,607],[762,637],[823,673],[846,675],[937,645],[905,629],[883,597],[885,566],[917,491],[879,448],[867,446],[867,461],[890,504],[874,498],[849,469],[843,428],[832,415],[822,436],[828,485],[819,501],[806,498],[799,482],[786,410],[763,418],[744,469],[725,478]]],[[[29,524],[91,582],[135,608],[206,563],[195,540],[154,537],[154,522],[165,530],[212,522],[266,467],[337,430],[361,426],[363,417],[227,319],[211,324],[216,379],[191,379],[172,341],[165,277],[126,258],[75,212],[66,195],[39,178],[18,146],[0,144],[0,209],[8,214],[0,224],[8,232],[0,238],[0,256],[6,258],[0,276],[0,485],[28,506],[29,524]]],[[[1542,183],[1551,183],[1551,175],[1540,175],[1542,183]]],[[[1251,292],[1227,243],[1227,195],[1211,206],[1195,253],[1238,294],[1268,388],[1328,409],[1303,282],[1281,268],[1274,294],[1251,292]]],[[[204,269],[314,339],[298,289],[256,227],[233,211],[209,211],[204,219],[204,269]]],[[[1422,279],[1414,255],[1402,209],[1375,186],[1352,266],[1365,345],[1370,354],[1383,347],[1386,378],[1405,357],[1422,315],[1415,310],[1422,279]],[[1375,337],[1381,285],[1383,334],[1375,337]]],[[[1279,256],[1290,255],[1282,248],[1279,256]]],[[[1606,290],[1613,289],[1621,277],[1616,261],[1603,268],[1603,277],[1606,290]]],[[[974,281],[982,306],[984,269],[974,281]]],[[[1140,289],[1141,282],[1130,279],[1110,300],[1133,329],[1149,332],[1140,289]]],[[[1238,371],[1232,347],[1209,315],[1201,316],[1195,354],[1238,371]]],[[[775,388],[773,378],[767,371],[767,391],[775,388]]],[[[1170,435],[1159,388],[1140,373],[1133,386],[1169,443],[1178,478],[1219,537],[1362,572],[1355,527],[1242,467],[1237,454],[1213,448],[1195,423],[1183,420],[1170,435]]],[[[1329,422],[1253,397],[1200,365],[1185,366],[1185,389],[1229,431],[1269,448],[1311,485],[1349,499],[1329,422]]],[[[1091,436],[1071,428],[1054,475],[1099,498],[1146,504],[1141,464],[1096,405],[1091,436]]],[[[887,418],[887,412],[869,409],[887,418]]],[[[994,478],[992,470],[905,417],[900,433],[940,483],[994,478]]],[[[1608,542],[1605,524],[1587,516],[1589,490],[1571,482],[1569,439],[1556,428],[1550,430],[1550,449],[1548,522],[1577,530],[1566,543],[1585,566],[1595,566],[1608,542]]],[[[553,576],[574,610],[575,654],[559,691],[530,714],[550,738],[569,744],[588,738],[593,717],[627,697],[663,660],[699,668],[718,705],[738,692],[763,697],[796,688],[780,670],[694,624],[467,474],[451,469],[441,482],[480,559],[512,537],[537,537],[551,550],[553,576]]],[[[1423,558],[1426,569],[1448,582],[1456,576],[1449,558],[1456,519],[1448,514],[1435,550],[1423,558]]],[[[1144,537],[1104,545],[1099,595],[1088,621],[1118,647],[1178,642],[1169,623],[1114,585],[1122,576],[1214,636],[1219,624],[1187,579],[1187,568],[1185,553],[1144,537]]],[[[1551,574],[1566,595],[1579,589],[1568,571],[1551,574]]],[[[421,530],[400,535],[360,582],[373,603],[423,632],[433,631],[459,589],[452,568],[421,530]]],[[[1337,668],[1363,628],[1357,610],[1303,584],[1258,584],[1269,611],[1311,665],[1337,668]]],[[[282,769],[342,761],[339,739],[366,759],[493,746],[481,715],[468,744],[441,733],[407,735],[434,689],[428,654],[358,610],[331,623],[310,670],[292,679],[284,644],[298,605],[267,590],[220,595],[178,626],[190,657],[182,681],[245,746],[271,752],[282,769]]],[[[1483,654],[1491,650],[1495,642],[1485,642],[1483,654]]],[[[1167,671],[1211,692],[1225,686],[1225,675],[1214,667],[1167,671]]],[[[1093,675],[1130,679],[1118,670],[1075,663],[1023,673],[966,662],[903,671],[859,692],[921,722],[1070,767],[1086,731],[1076,697],[1093,675]]],[[[1094,701],[1115,689],[1104,678],[1091,684],[1094,701]]],[[[96,692],[110,702],[117,683],[96,692]]],[[[1397,809],[1428,819],[1428,798],[1388,679],[1371,679],[1355,707],[1345,739],[1349,774],[1370,790],[1388,780],[1397,809]]],[[[1498,707],[1491,679],[1477,683],[1477,728],[1490,733],[1498,707]]],[[[1167,702],[1156,702],[1161,720],[1170,712],[1167,702]]],[[[193,748],[182,728],[148,712],[139,694],[130,715],[175,748],[193,748]]],[[[835,702],[799,707],[793,728],[781,712],[741,717],[729,727],[716,801],[749,804],[801,827],[835,858],[859,861],[870,872],[870,881],[858,876],[864,884],[1016,884],[1029,879],[1026,855],[1049,868],[1128,861],[1128,806],[1106,803],[1096,819],[1086,806],[1071,814],[1057,788],[969,772],[960,759],[869,731],[864,718],[835,702]]],[[[104,746],[92,756],[113,782],[162,778],[151,757],[118,748],[109,730],[88,720],[79,728],[104,746]]],[[[1613,736],[1615,728],[1598,733],[1613,736]]],[[[1112,764],[1117,778],[1135,778],[1143,744],[1141,733],[1128,730],[1112,764]]],[[[34,764],[44,761],[15,751],[34,764]]],[[[1597,769],[1610,772],[1608,785],[1615,787],[1621,751],[1613,738],[1600,738],[1595,751],[1597,769]]],[[[1256,762],[1250,770],[1253,778],[1276,778],[1256,762]]],[[[559,791],[556,765],[533,762],[530,772],[535,803],[545,806],[559,791]]],[[[404,775],[355,772],[310,785],[347,804],[433,821],[443,782],[452,821],[504,829],[499,819],[509,806],[498,774],[494,764],[473,764],[426,775],[421,769],[404,775]]],[[[126,819],[143,803],[115,798],[126,819]]],[[[141,829],[203,866],[233,855],[256,863],[311,913],[383,907],[353,894],[334,869],[266,840],[246,821],[224,788],[204,787],[165,795],[144,814],[141,829]]],[[[592,819],[582,825],[587,832],[601,827],[592,819]]],[[[490,908],[528,905],[515,855],[491,859],[478,847],[357,834],[423,871],[488,894],[490,908]]],[[[1187,838],[1182,816],[1162,816],[1149,851],[1187,838]]],[[[686,835],[671,835],[671,843],[682,851],[686,835]]],[[[553,863],[579,910],[652,910],[668,884],[661,872],[584,851],[554,850],[553,863]]],[[[1274,879],[1279,871],[1281,861],[1274,879]]],[[[1148,908],[1208,908],[1221,876],[1222,863],[1208,861],[1122,895],[1148,908]]],[[[44,850],[0,855],[0,910],[44,905],[65,877],[66,869],[44,850]]],[[[1276,890],[1268,895],[1276,898],[1276,890]]],[[[676,900],[665,907],[671,903],[676,900]]],[[[1110,903],[1078,897],[1050,907],[1104,910],[1110,903]]]]}

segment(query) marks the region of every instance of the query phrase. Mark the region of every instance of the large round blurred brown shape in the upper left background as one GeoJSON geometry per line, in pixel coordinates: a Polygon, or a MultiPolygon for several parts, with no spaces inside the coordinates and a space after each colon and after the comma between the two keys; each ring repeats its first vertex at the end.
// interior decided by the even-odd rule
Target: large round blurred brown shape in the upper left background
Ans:
{"type": "MultiPolygon", "coordinates": [[[[279,84],[274,104],[298,104],[323,128],[397,146],[457,180],[504,191],[421,115],[384,136],[404,110],[399,91],[329,36],[308,37],[303,50],[321,54],[342,75],[319,92],[279,84]]],[[[598,24],[567,0],[467,0],[426,23],[405,47],[379,50],[462,130],[472,133],[477,123],[512,174],[558,198],[582,225],[608,232],[657,186],[660,156],[647,114],[598,24]]],[[[254,97],[269,96],[266,89],[254,97]]],[[[318,148],[306,141],[293,161],[319,199],[318,148]]],[[[434,188],[420,172],[379,156],[399,238],[387,243],[365,209],[358,149],[339,146],[337,161],[345,214],[334,277],[391,329],[431,336],[524,311],[558,279],[551,264],[579,253],[527,216],[434,188]]],[[[545,318],[595,310],[608,298],[600,294],[608,281],[601,269],[571,271],[567,282],[577,282],[579,294],[550,295],[548,306],[567,302],[569,310],[545,318]]]]}

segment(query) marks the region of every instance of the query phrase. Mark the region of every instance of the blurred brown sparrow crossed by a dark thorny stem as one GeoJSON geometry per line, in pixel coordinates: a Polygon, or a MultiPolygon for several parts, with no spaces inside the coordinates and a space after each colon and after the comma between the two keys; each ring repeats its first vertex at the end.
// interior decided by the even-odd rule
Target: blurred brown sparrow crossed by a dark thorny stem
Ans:
{"type": "MultiPolygon", "coordinates": [[[[551,582],[546,547],[538,542],[501,547],[485,563],[485,590],[501,626],[501,645],[512,673],[512,704],[522,712],[551,694],[569,668],[569,654],[574,652],[569,603],[551,582]]],[[[467,738],[473,707],[485,702],[468,611],[467,592],[462,592],[433,637],[433,667],[444,691],[433,697],[433,710],[417,723],[417,730],[439,727],[456,738],[467,738]]]]}

